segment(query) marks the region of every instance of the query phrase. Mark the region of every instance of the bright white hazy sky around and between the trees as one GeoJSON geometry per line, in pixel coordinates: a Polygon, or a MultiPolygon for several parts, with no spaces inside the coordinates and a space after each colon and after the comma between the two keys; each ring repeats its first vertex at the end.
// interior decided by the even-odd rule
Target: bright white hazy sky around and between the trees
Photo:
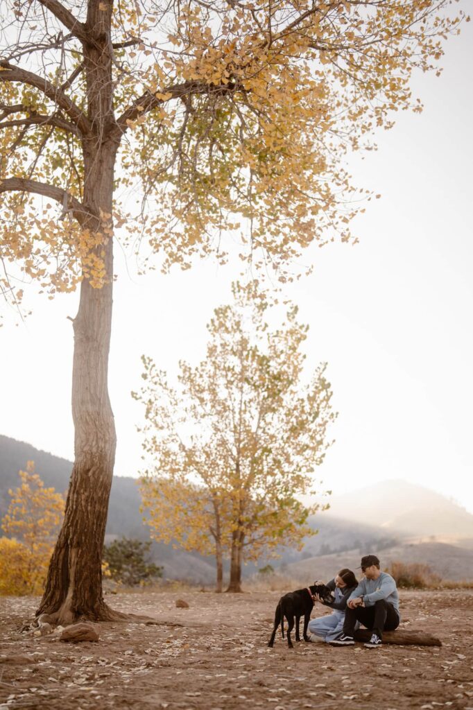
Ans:
{"type": "MultiPolygon", "coordinates": [[[[308,366],[329,363],[339,418],[319,469],[341,493],[403,478],[473,513],[473,27],[447,43],[442,77],[416,75],[423,114],[402,114],[379,151],[350,161],[381,192],[354,225],[360,244],[314,248],[315,271],[287,293],[310,324],[308,366]]],[[[118,255],[110,392],[116,474],[141,466],[135,426],[141,354],[175,373],[205,351],[205,323],[229,299],[234,263],[186,273],[126,274],[118,255]]],[[[77,295],[30,295],[33,315],[0,329],[0,433],[72,459],[72,324],[77,295]]],[[[39,471],[40,473],[40,471],[39,471]]],[[[376,511],[369,511],[376,518],[376,511]]]]}

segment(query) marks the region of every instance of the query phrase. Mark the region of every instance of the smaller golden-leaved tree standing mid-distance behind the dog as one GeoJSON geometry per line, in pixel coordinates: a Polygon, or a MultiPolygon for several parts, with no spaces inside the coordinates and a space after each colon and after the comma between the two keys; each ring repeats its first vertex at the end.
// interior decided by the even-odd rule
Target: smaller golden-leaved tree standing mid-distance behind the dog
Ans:
{"type": "Polygon", "coordinates": [[[234,284],[233,295],[207,326],[205,359],[180,363],[178,388],[145,357],[134,397],[146,407],[143,445],[155,461],[142,486],[153,534],[200,552],[213,538],[217,589],[227,550],[227,591],[241,591],[244,559],[310,534],[305,521],[317,506],[305,508],[300,497],[310,493],[335,415],[325,365],[301,381],[308,327],[297,308],[271,329],[271,303],[256,283],[234,284]]]}

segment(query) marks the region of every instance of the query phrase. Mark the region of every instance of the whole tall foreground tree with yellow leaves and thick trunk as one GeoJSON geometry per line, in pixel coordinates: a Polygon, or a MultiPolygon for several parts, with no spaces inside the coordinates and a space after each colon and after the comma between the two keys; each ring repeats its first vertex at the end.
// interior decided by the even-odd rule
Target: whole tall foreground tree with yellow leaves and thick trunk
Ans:
{"type": "Polygon", "coordinates": [[[101,556],[116,230],[165,270],[225,261],[234,233],[280,278],[311,242],[349,241],[344,152],[418,108],[411,73],[435,68],[457,31],[450,4],[0,0],[1,288],[17,303],[18,275],[50,297],[80,285],[75,463],[38,611],[113,616],[101,556]]]}

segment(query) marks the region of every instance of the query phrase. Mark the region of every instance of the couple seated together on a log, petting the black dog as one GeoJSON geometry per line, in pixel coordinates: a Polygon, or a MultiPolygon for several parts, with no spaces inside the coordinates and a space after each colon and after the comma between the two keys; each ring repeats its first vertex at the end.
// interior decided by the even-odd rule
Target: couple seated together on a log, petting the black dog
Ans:
{"type": "MultiPolygon", "coordinates": [[[[361,572],[364,579],[357,581],[351,569],[341,569],[327,586],[335,593],[335,600],[325,602],[332,608],[328,616],[320,616],[309,622],[310,640],[323,640],[330,645],[354,645],[354,632],[359,624],[372,631],[366,648],[379,648],[383,631],[398,628],[399,596],[391,574],[381,572],[376,555],[361,557],[361,572]]],[[[315,584],[322,584],[317,581],[315,584]]]]}

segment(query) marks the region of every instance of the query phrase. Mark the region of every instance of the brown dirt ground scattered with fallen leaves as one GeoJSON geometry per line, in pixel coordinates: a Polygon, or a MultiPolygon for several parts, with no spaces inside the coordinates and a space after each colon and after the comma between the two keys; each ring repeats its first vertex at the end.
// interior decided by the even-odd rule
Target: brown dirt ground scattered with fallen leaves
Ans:
{"type": "Polygon", "coordinates": [[[98,643],[77,645],[19,633],[37,600],[3,598],[0,709],[473,710],[473,591],[401,593],[403,627],[435,633],[442,648],[376,650],[304,642],[288,650],[281,635],[267,648],[279,596],[120,594],[111,606],[163,624],[104,623],[98,643]]]}

